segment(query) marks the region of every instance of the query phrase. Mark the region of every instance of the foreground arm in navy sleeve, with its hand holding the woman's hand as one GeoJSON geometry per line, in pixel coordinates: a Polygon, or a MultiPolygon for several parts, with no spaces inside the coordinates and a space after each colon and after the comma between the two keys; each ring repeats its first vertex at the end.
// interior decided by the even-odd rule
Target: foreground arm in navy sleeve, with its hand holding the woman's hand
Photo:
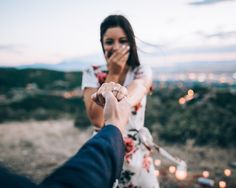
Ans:
{"type": "MultiPolygon", "coordinates": [[[[121,95],[118,102],[110,91],[95,95],[93,100],[97,101],[97,97],[104,97],[106,126],[85,143],[74,157],[47,177],[40,187],[110,188],[119,178],[125,150],[121,133],[128,121],[130,105],[125,96],[121,95]]],[[[0,167],[0,187],[35,188],[36,185],[0,167]]]]}

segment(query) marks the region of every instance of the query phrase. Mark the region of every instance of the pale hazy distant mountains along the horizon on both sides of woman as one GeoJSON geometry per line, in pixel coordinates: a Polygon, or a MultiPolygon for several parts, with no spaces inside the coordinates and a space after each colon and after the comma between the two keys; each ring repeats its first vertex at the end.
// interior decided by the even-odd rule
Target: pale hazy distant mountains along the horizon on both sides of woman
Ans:
{"type": "MultiPolygon", "coordinates": [[[[196,61],[192,60],[189,62],[175,62],[175,63],[152,63],[154,60],[147,61],[150,66],[154,66],[154,72],[159,73],[232,73],[236,70],[236,61],[196,61]]],[[[157,60],[155,60],[157,61],[157,60]]],[[[97,56],[90,56],[84,58],[65,59],[64,61],[57,64],[47,63],[34,63],[34,64],[23,64],[16,66],[17,69],[46,69],[56,70],[62,72],[68,71],[82,71],[92,64],[104,64],[104,58],[101,54],[97,56]]],[[[7,68],[7,66],[5,67],[7,68]]],[[[9,67],[8,67],[9,68],[9,67]]]]}

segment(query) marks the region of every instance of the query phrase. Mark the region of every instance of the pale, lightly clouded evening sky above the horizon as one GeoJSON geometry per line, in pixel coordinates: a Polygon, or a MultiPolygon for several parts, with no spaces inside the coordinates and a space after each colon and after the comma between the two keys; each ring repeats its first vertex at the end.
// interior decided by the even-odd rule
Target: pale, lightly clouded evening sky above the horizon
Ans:
{"type": "Polygon", "coordinates": [[[233,0],[0,0],[0,66],[102,61],[99,26],[123,14],[152,65],[236,61],[233,0]]]}

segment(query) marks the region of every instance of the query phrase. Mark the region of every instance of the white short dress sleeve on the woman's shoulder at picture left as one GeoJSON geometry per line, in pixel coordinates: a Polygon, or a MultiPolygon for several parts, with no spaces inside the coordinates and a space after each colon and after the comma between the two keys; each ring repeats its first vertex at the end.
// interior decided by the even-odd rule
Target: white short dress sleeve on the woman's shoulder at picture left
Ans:
{"type": "Polygon", "coordinates": [[[99,82],[94,74],[94,70],[92,67],[83,71],[81,88],[82,90],[84,90],[86,87],[99,87],[99,82]]]}

